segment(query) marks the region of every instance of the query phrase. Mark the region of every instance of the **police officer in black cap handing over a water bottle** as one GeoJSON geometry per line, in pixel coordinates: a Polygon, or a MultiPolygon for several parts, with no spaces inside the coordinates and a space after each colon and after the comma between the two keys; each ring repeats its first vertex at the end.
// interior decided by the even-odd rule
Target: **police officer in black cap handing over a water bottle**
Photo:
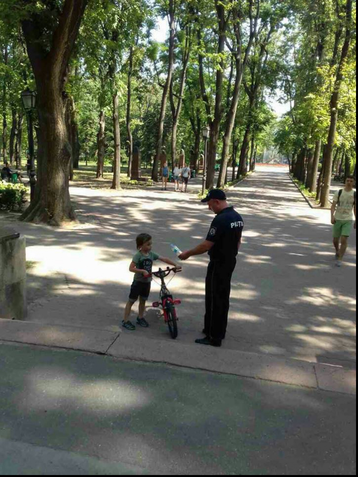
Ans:
{"type": "Polygon", "coordinates": [[[201,202],[207,203],[216,217],[206,240],[192,250],[183,252],[179,259],[187,260],[205,252],[209,254],[205,281],[205,338],[195,340],[195,343],[221,346],[228,321],[231,277],[241,245],[244,222],[234,207],[228,205],[226,195],[220,189],[211,190],[201,202]]]}

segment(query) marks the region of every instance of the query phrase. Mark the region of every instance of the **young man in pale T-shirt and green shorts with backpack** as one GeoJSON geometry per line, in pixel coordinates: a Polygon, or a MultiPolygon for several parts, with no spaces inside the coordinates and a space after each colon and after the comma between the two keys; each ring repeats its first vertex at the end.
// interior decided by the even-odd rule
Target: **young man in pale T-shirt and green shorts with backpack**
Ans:
{"type": "Polygon", "coordinates": [[[357,192],[353,189],[354,183],[354,177],[348,176],[345,188],[337,191],[333,197],[331,223],[333,225],[333,245],[336,249],[337,267],[342,266],[353,224],[354,228],[357,228],[357,192]],[[353,213],[356,220],[353,220],[353,213]]]}

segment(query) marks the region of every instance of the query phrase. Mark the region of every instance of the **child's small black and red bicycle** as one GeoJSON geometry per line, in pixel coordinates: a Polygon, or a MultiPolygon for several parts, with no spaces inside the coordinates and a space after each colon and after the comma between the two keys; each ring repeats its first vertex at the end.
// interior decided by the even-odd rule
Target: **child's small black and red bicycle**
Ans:
{"type": "Polygon", "coordinates": [[[154,308],[159,308],[162,306],[164,312],[164,321],[168,324],[169,333],[171,337],[175,340],[178,337],[178,315],[176,311],[176,305],[181,303],[181,300],[173,299],[173,295],[168,290],[168,287],[164,281],[172,272],[175,274],[181,272],[181,269],[169,268],[162,270],[161,268],[158,272],[152,272],[151,275],[157,277],[161,280],[161,291],[160,291],[160,301],[155,301],[153,303],[154,308]]]}

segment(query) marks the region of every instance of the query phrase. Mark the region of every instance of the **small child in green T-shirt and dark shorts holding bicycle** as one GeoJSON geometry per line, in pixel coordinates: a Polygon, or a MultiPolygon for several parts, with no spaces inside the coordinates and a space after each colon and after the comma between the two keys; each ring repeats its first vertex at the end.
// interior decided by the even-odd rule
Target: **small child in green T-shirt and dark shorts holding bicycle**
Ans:
{"type": "Polygon", "coordinates": [[[135,326],[129,321],[129,315],[133,304],[139,297],[139,314],[137,317],[137,324],[148,328],[149,324],[143,317],[145,311],[146,301],[149,298],[152,277],[148,277],[152,273],[152,266],[155,260],[167,263],[181,269],[180,265],[172,262],[169,258],[160,257],[158,254],[152,252],[152,237],[148,234],[139,234],[137,239],[138,252],[134,255],[132,263],[129,266],[129,271],[134,273],[134,281],[131,286],[129,300],[125,307],[124,320],[122,321],[123,328],[127,330],[135,330],[135,326]]]}

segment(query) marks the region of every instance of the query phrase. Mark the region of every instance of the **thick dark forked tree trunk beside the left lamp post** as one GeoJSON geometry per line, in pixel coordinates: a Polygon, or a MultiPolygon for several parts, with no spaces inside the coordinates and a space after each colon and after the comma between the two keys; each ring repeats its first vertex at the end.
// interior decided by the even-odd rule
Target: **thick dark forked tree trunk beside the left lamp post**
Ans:
{"type": "MultiPolygon", "coordinates": [[[[65,120],[65,89],[68,65],[88,0],[65,0],[52,33],[50,50],[42,47],[43,35],[49,36],[42,14],[29,12],[22,21],[27,53],[37,89],[39,141],[37,149],[37,185],[34,200],[22,219],[60,225],[76,216],[69,193],[71,146],[65,120]]],[[[44,8],[50,8],[46,5],[44,8]]],[[[54,13],[55,14],[55,13],[54,13]]]]}

